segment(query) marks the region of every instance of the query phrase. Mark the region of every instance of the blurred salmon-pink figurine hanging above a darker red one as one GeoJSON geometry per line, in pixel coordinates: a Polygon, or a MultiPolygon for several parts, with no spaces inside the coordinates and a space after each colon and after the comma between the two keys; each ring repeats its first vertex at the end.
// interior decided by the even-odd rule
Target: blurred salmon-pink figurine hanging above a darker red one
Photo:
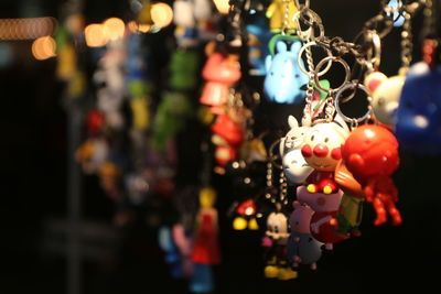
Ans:
{"type": "Polygon", "coordinates": [[[202,70],[205,86],[201,96],[201,104],[209,106],[208,111],[215,115],[224,112],[224,105],[228,100],[229,88],[241,77],[238,56],[213,53],[202,70]]]}

